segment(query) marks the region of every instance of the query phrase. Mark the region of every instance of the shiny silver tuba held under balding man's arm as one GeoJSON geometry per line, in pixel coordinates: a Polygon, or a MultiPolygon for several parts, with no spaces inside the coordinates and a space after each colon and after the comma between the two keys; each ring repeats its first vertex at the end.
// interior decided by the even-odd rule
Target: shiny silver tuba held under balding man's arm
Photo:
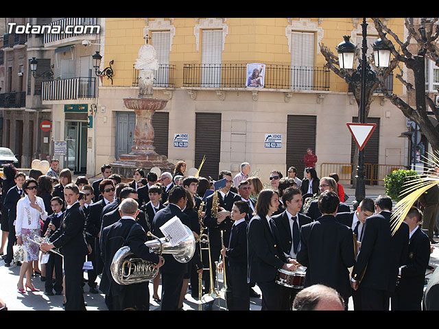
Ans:
{"type": "MultiPolygon", "coordinates": [[[[195,238],[190,228],[185,226],[185,229],[189,236],[177,245],[173,246],[167,238],[159,239],[153,236],[151,232],[147,232],[147,235],[156,239],[145,242],[145,245],[158,255],[171,254],[179,263],[188,263],[195,252],[195,238]]],[[[124,246],[112,258],[110,272],[117,284],[126,286],[154,279],[159,269],[153,266],[152,262],[134,256],[130,251],[130,247],[124,246]]]]}

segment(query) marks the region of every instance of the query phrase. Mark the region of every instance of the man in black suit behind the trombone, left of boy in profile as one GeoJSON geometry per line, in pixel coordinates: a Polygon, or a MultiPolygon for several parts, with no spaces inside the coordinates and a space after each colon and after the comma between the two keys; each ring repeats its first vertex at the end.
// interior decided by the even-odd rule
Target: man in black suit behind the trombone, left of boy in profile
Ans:
{"type": "MultiPolygon", "coordinates": [[[[219,260],[221,254],[221,231],[223,231],[223,240],[228,241],[230,239],[230,229],[232,228],[232,221],[230,219],[230,211],[233,207],[233,202],[241,200],[239,195],[230,191],[233,184],[232,173],[230,171],[221,171],[218,179],[222,180],[226,178],[226,186],[219,188],[218,196],[218,211],[217,215],[212,216],[212,201],[213,194],[206,198],[206,211],[204,213],[203,223],[207,228],[207,234],[209,236],[209,247],[211,248],[211,267],[215,269],[215,261],[219,260]]],[[[203,258],[204,259],[204,258],[203,258]]],[[[207,267],[209,266],[209,262],[207,267]]],[[[215,284],[215,276],[213,283],[215,284]]],[[[210,280],[206,280],[206,291],[211,288],[210,280]]],[[[206,304],[206,309],[209,309],[212,304],[206,304]]]]}

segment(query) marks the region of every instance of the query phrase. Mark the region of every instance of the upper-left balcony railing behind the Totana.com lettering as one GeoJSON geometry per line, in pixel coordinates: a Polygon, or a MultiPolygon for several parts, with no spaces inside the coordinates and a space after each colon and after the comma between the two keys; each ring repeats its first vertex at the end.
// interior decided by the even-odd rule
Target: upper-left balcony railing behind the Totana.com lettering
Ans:
{"type": "Polygon", "coordinates": [[[68,17],[66,19],[58,19],[57,21],[53,21],[47,25],[50,25],[50,31],[44,30],[44,37],[43,42],[50,43],[50,42],[56,42],[59,40],[64,40],[67,38],[72,38],[75,36],[84,36],[86,34],[97,34],[99,31],[97,29],[92,28],[93,26],[97,25],[98,19],[97,18],[73,18],[68,17]],[[54,28],[54,26],[57,26],[54,28]],[[59,27],[58,27],[59,26],[59,27]],[[69,27],[69,28],[67,28],[69,27]],[[82,32],[80,34],[75,34],[72,32],[75,32],[74,28],[78,28],[78,32],[82,32]],[[56,31],[56,29],[59,29],[59,33],[56,31]]]}

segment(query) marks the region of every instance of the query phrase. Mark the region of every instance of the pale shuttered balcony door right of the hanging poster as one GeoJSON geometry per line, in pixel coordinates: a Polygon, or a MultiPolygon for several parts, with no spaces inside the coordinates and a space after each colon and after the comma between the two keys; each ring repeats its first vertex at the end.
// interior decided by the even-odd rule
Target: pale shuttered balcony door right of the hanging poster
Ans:
{"type": "Polygon", "coordinates": [[[291,87],[312,90],[314,66],[314,34],[292,32],[291,87]]]}

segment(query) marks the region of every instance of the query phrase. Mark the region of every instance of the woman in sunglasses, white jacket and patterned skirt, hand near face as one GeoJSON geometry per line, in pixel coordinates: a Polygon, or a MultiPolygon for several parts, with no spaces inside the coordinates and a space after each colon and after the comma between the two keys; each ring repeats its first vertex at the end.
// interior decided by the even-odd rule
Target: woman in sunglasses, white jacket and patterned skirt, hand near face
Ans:
{"type": "Polygon", "coordinates": [[[47,218],[43,199],[36,196],[38,182],[34,178],[29,178],[23,184],[25,197],[21,198],[16,204],[16,223],[15,234],[18,245],[23,245],[27,252],[27,262],[21,265],[20,278],[17,284],[19,292],[24,293],[23,278],[26,275],[26,289],[38,291],[32,284],[32,264],[33,260],[38,260],[39,246],[30,241],[34,236],[40,236],[40,219],[47,218]]]}

